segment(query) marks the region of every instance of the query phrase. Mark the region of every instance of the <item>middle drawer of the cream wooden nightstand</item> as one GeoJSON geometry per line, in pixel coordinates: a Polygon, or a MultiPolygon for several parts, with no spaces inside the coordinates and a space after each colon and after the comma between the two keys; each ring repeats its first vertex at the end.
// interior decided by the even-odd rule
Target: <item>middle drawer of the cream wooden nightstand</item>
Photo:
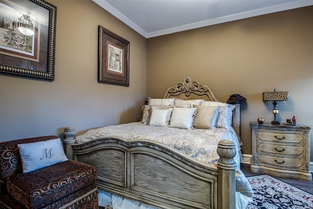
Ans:
{"type": "Polygon", "coordinates": [[[303,147],[300,146],[284,146],[268,143],[259,143],[258,151],[268,152],[281,155],[295,155],[300,156],[303,154],[303,147]]]}

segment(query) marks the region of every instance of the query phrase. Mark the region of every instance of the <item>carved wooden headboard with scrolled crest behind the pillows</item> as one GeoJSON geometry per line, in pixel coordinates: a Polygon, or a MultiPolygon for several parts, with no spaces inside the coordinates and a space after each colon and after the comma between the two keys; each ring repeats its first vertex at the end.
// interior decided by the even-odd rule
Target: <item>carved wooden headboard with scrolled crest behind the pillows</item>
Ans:
{"type": "MultiPolygon", "coordinates": [[[[208,86],[202,85],[197,81],[191,81],[188,76],[182,82],[178,82],[175,86],[168,88],[164,98],[173,97],[184,100],[204,99],[206,101],[219,102],[208,86]]],[[[233,105],[236,107],[233,110],[232,127],[240,139],[240,104],[233,105]]]]}

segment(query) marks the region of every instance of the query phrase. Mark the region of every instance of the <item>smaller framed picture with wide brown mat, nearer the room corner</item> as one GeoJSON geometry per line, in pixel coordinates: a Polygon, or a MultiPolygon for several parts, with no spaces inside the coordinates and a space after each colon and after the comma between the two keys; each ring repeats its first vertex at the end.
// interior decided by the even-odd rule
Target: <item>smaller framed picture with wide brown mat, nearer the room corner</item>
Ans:
{"type": "Polygon", "coordinates": [[[130,42],[99,25],[98,82],[129,86],[130,42]]]}

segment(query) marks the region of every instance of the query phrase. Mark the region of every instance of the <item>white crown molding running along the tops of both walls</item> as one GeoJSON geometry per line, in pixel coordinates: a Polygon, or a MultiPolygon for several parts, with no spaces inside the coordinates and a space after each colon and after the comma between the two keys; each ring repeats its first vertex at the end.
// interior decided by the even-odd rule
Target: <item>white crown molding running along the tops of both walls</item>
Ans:
{"type": "Polygon", "coordinates": [[[241,19],[246,19],[246,18],[251,18],[251,17],[256,17],[260,15],[266,15],[274,12],[281,12],[285,10],[290,10],[290,9],[296,9],[300,7],[305,7],[305,6],[311,6],[313,5],[313,0],[296,0],[296,1],[291,1],[287,3],[282,3],[278,5],[273,5],[273,6],[268,6],[260,9],[254,9],[246,12],[241,12],[233,15],[227,15],[219,18],[214,18],[210,20],[205,20],[205,21],[200,21],[196,23],[190,23],[190,24],[185,24],[185,25],[180,25],[177,27],[172,27],[172,28],[167,28],[164,30],[158,30],[154,31],[151,33],[147,33],[144,31],[142,28],[140,28],[137,24],[135,24],[133,21],[128,19],[125,15],[120,13],[118,10],[116,10],[114,7],[112,7],[111,4],[109,4],[106,0],[92,0],[99,6],[101,6],[103,9],[111,13],[114,17],[122,21],[123,23],[127,24],[129,27],[134,29],[137,33],[142,35],[145,38],[153,38],[157,36],[162,36],[162,35],[167,35],[171,33],[176,33],[180,31],[185,31],[185,30],[191,30],[191,29],[196,29],[200,27],[205,27],[209,25],[214,25],[214,24],[220,24],[220,23],[226,23],[226,22],[231,22],[231,21],[236,21],[236,20],[241,20],[241,19]]]}

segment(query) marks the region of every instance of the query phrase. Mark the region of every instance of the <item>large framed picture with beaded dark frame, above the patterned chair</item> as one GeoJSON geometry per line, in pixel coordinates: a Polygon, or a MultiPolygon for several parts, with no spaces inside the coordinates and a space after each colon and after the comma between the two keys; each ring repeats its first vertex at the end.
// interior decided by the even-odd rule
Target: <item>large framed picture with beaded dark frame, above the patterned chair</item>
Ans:
{"type": "Polygon", "coordinates": [[[0,0],[0,72],[54,80],[56,6],[0,0]]]}

